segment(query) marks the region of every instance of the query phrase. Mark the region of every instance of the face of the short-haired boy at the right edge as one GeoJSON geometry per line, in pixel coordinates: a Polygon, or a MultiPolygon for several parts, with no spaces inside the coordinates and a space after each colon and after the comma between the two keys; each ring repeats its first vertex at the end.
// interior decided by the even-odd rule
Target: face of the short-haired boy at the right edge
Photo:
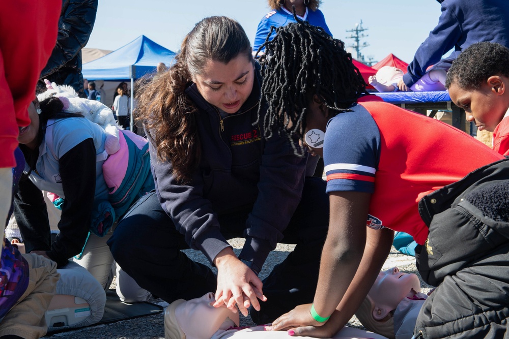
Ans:
{"type": "Polygon", "coordinates": [[[477,89],[461,88],[457,81],[449,86],[450,99],[456,106],[463,108],[468,121],[474,121],[479,131],[493,132],[509,107],[507,95],[504,95],[505,77],[492,76],[477,89]]]}

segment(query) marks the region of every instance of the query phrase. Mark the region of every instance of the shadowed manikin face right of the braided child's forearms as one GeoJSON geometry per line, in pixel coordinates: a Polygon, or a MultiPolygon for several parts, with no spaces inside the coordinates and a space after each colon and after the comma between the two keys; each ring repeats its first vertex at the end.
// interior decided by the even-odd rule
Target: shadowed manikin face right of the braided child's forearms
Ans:
{"type": "Polygon", "coordinates": [[[384,318],[388,312],[395,310],[405,297],[412,297],[420,292],[420,281],[416,274],[400,272],[398,267],[378,273],[377,280],[367,294],[375,304],[373,316],[384,318]]]}

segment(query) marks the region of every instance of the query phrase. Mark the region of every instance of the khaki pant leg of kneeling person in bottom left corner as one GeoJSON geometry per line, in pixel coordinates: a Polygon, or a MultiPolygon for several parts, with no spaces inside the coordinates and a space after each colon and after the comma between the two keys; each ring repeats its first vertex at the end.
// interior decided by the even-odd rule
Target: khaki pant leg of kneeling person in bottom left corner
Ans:
{"type": "Polygon", "coordinates": [[[0,323],[0,336],[10,334],[37,339],[47,332],[44,313],[55,294],[60,274],[54,261],[37,254],[23,257],[29,263],[29,286],[0,323]]]}

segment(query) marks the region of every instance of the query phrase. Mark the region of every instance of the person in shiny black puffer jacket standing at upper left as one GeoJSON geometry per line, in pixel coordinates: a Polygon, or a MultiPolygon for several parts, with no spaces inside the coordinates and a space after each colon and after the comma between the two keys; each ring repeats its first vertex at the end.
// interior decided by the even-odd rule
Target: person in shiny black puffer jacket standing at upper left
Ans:
{"type": "Polygon", "coordinates": [[[59,35],[46,67],[41,72],[38,87],[46,89],[44,79],[59,85],[69,85],[87,98],[81,74],[81,49],[89,41],[97,13],[98,0],[62,0],[59,35]]]}

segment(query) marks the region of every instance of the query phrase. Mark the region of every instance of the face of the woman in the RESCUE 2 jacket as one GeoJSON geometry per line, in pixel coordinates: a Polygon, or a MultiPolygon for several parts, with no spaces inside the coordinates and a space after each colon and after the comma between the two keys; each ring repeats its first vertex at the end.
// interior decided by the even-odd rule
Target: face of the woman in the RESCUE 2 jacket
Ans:
{"type": "Polygon", "coordinates": [[[251,94],[254,65],[244,54],[237,55],[228,64],[209,59],[193,81],[207,102],[224,112],[236,113],[251,94]]]}

